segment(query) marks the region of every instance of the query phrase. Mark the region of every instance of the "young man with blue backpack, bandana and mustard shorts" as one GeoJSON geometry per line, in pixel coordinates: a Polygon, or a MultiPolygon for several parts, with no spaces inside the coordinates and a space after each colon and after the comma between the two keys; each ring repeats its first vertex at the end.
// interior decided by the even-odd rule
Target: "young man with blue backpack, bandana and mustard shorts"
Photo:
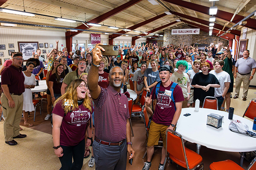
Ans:
{"type": "Polygon", "coordinates": [[[159,69],[161,82],[153,88],[150,98],[145,98],[146,105],[150,107],[153,100],[157,100],[147,142],[147,162],[142,170],[149,170],[151,158],[154,153],[154,145],[158,143],[160,135],[163,138],[162,157],[158,170],[163,170],[166,153],[165,133],[167,129],[175,130],[180,117],[182,101],[184,100],[182,89],[177,83],[170,80],[172,66],[163,65],[159,69]]]}

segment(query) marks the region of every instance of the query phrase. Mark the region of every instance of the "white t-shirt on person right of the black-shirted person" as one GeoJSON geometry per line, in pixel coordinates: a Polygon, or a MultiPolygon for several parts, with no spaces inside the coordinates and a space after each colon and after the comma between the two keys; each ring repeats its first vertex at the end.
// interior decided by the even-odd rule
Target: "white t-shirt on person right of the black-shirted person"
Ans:
{"type": "Polygon", "coordinates": [[[215,77],[219,81],[219,84],[221,85],[221,87],[215,88],[214,97],[222,96],[224,88],[225,88],[225,83],[226,82],[229,82],[229,83],[231,82],[230,81],[230,75],[226,71],[222,71],[222,72],[217,73],[216,70],[212,70],[209,73],[215,75],[215,77]]]}

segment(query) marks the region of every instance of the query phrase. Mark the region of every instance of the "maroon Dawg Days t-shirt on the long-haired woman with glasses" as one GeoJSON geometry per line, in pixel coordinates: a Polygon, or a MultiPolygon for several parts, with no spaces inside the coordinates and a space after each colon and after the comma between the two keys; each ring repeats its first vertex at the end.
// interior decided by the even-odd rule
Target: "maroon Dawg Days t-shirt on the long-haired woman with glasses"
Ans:
{"type": "Polygon", "coordinates": [[[92,111],[90,111],[81,104],[79,109],[68,112],[65,115],[65,106],[61,104],[62,101],[58,102],[52,111],[52,113],[63,117],[60,126],[60,145],[75,146],[84,139],[86,124],[91,119],[93,107],[92,111]]]}

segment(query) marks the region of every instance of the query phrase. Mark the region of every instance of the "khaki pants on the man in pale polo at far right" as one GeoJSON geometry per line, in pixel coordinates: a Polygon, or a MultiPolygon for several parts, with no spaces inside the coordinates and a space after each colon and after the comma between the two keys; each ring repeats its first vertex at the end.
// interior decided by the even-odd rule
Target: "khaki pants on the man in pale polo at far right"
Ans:
{"type": "Polygon", "coordinates": [[[241,75],[237,72],[237,78],[236,78],[236,91],[235,91],[235,96],[239,96],[240,92],[240,87],[243,82],[243,98],[246,98],[248,90],[249,90],[249,85],[250,85],[250,78],[251,74],[247,75],[241,75]]]}

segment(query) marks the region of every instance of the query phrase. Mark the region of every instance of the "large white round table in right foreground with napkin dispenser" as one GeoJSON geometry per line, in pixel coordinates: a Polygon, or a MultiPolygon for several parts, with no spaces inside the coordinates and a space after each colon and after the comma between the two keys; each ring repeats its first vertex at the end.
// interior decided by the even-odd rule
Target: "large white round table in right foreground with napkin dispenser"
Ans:
{"type": "MultiPolygon", "coordinates": [[[[207,108],[182,108],[180,118],[178,119],[176,131],[182,137],[192,143],[206,146],[211,149],[230,151],[230,152],[247,152],[256,150],[256,138],[237,134],[229,130],[229,124],[233,120],[240,120],[249,126],[252,131],[253,122],[238,115],[233,115],[233,120],[228,119],[228,112],[212,110],[207,108]],[[190,113],[190,116],[184,114],[190,113]],[[216,129],[208,126],[207,115],[210,113],[224,116],[222,127],[216,129]]],[[[198,146],[198,145],[197,145],[198,146]]],[[[197,147],[199,153],[200,146],[197,147]]]]}

